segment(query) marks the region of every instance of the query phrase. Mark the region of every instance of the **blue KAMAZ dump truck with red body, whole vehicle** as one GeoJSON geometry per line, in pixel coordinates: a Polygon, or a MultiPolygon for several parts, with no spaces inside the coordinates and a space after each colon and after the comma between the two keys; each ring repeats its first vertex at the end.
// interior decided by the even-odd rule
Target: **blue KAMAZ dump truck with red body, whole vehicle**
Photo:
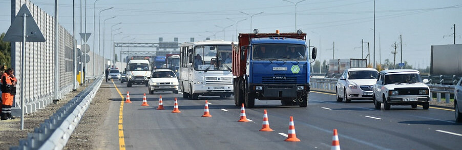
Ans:
{"type": "MultiPolygon", "coordinates": [[[[311,57],[316,58],[313,48],[311,57]]],[[[233,44],[236,106],[253,108],[255,98],[280,100],[282,105],[308,103],[310,62],[306,33],[241,33],[233,44]]]]}

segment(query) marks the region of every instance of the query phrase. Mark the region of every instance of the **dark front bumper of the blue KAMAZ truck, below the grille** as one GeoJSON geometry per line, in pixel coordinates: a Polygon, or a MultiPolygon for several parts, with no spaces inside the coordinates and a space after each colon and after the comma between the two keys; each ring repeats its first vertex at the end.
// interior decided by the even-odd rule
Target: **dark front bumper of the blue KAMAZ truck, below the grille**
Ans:
{"type": "Polygon", "coordinates": [[[297,97],[310,90],[309,84],[249,84],[249,92],[256,92],[262,100],[297,97]]]}

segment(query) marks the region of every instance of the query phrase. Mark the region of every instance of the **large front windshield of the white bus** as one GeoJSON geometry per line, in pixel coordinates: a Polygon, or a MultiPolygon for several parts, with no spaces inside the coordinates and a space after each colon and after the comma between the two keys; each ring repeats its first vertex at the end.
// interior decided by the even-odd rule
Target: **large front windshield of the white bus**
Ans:
{"type": "Polygon", "coordinates": [[[198,71],[230,70],[231,45],[209,45],[194,48],[194,69],[198,71]]]}

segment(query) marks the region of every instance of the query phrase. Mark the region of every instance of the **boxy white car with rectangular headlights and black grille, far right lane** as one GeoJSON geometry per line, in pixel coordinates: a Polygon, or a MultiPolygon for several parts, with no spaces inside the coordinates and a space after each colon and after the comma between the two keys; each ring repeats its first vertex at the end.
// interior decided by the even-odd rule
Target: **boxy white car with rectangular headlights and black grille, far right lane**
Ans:
{"type": "Polygon", "coordinates": [[[429,91],[417,70],[384,70],[373,87],[375,109],[383,103],[385,110],[390,110],[391,105],[411,105],[415,109],[417,104],[428,110],[429,91]]]}

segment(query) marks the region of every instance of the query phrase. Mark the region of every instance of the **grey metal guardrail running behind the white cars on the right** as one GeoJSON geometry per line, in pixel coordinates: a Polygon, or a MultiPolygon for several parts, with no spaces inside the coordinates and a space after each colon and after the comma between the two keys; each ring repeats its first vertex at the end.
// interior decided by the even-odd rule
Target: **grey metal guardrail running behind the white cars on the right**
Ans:
{"type": "MultiPolygon", "coordinates": [[[[336,78],[310,78],[311,90],[335,93],[336,78]]],[[[441,102],[441,94],[445,94],[446,103],[450,101],[450,94],[454,94],[455,85],[427,84],[430,95],[436,93],[436,101],[441,102]]]]}

